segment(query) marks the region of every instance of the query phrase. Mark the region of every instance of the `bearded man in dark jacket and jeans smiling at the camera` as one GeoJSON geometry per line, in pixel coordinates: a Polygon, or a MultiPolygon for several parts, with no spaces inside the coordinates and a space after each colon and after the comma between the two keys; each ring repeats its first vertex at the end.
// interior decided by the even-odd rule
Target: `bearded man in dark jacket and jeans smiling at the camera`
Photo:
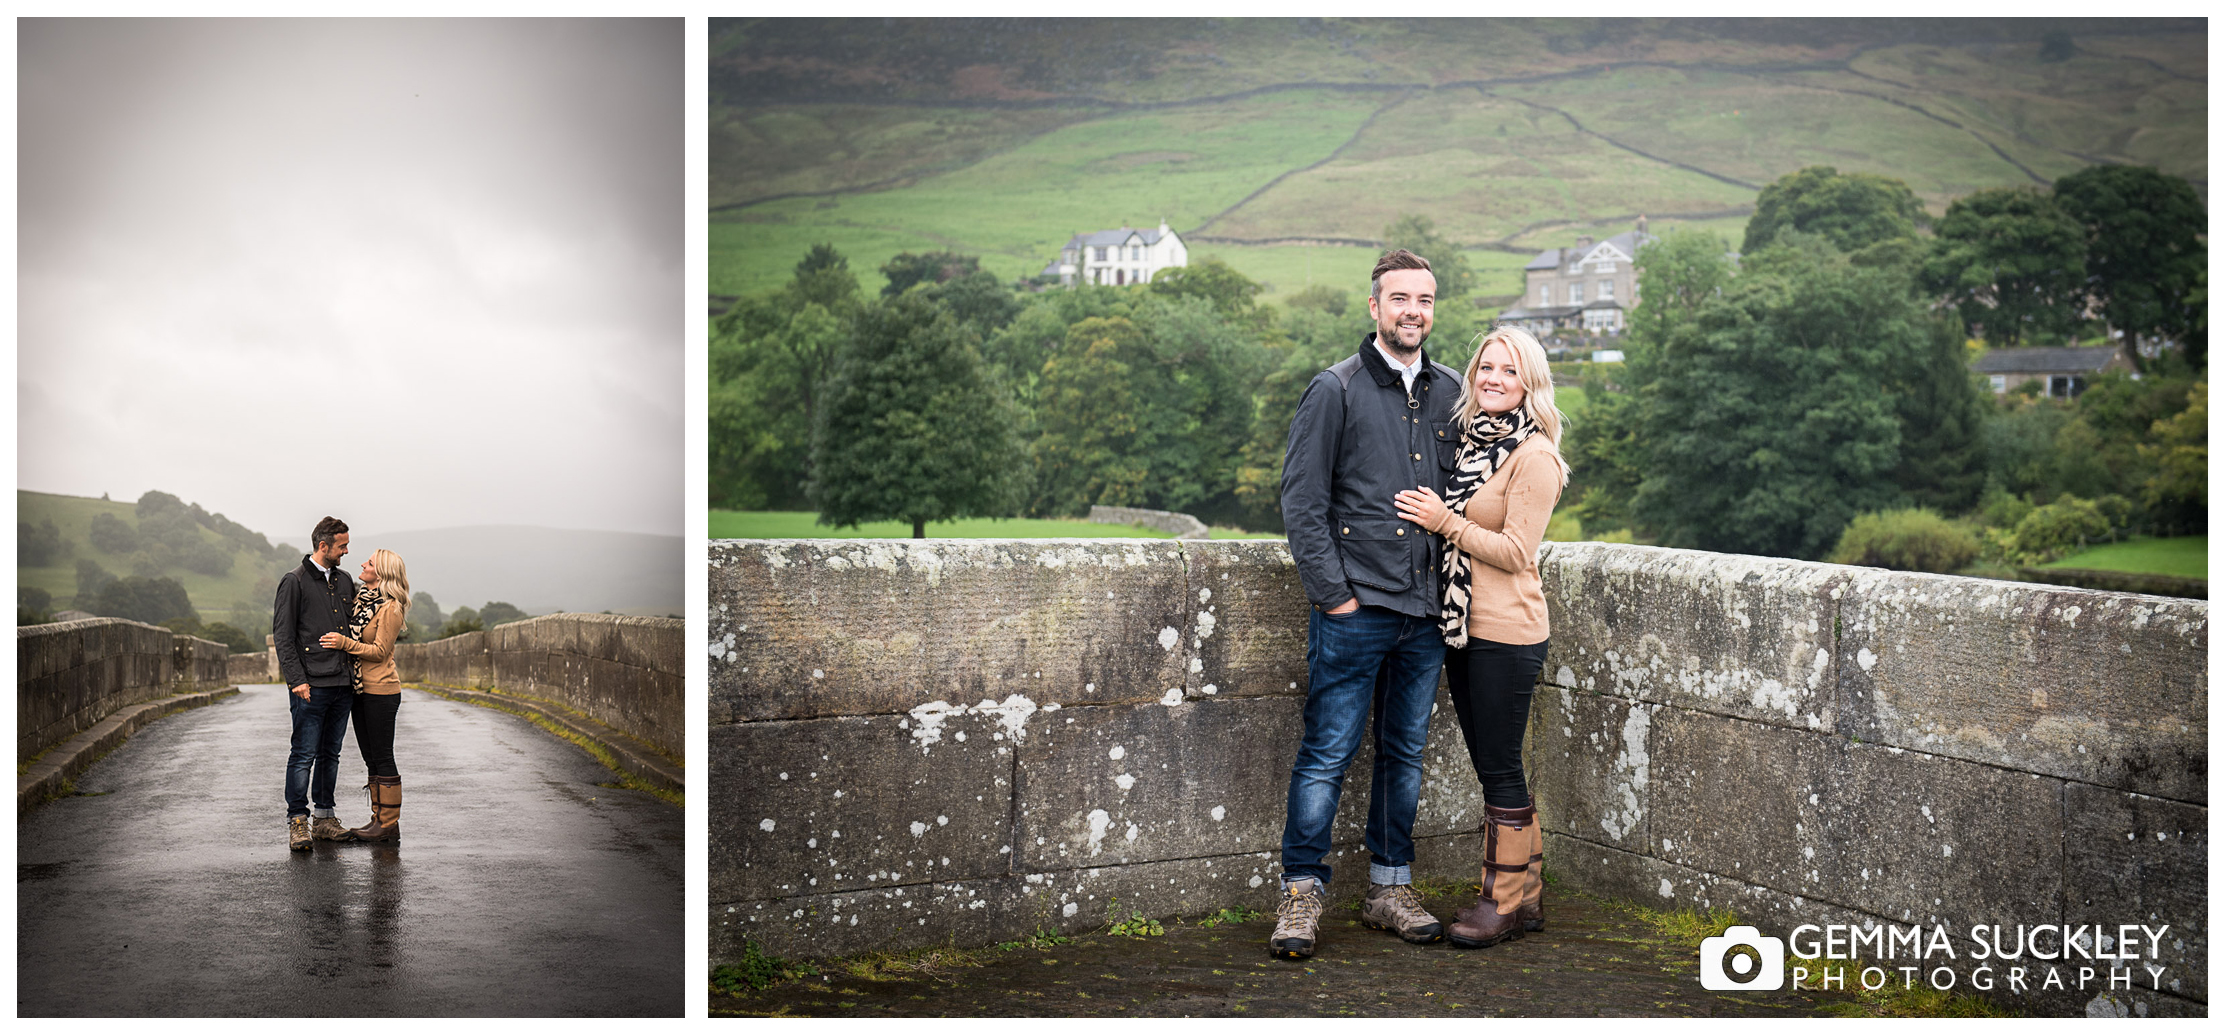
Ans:
{"type": "Polygon", "coordinates": [[[1438,278],[1407,250],[1385,252],[1369,283],[1376,332],[1360,352],[1313,377],[1291,419],[1282,461],[1282,524],[1313,602],[1307,622],[1307,733],[1291,764],[1282,829],[1282,902],[1269,951],[1313,956],[1329,887],[1329,822],[1345,769],[1376,711],[1369,780],[1369,893],[1360,920],[1407,942],[1438,942],[1445,925],[1414,891],[1414,811],[1422,742],[1438,693],[1438,548],[1398,517],[1400,490],[1445,490],[1460,434],[1460,374],[1431,363],[1438,278]]]}

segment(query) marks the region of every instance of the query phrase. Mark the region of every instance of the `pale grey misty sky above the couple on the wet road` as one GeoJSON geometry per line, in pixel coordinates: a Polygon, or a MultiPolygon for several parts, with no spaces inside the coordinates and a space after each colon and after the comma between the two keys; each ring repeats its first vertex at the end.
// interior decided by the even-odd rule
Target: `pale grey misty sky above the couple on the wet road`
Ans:
{"type": "Polygon", "coordinates": [[[681,22],[18,22],[18,486],[681,535],[681,22]]]}

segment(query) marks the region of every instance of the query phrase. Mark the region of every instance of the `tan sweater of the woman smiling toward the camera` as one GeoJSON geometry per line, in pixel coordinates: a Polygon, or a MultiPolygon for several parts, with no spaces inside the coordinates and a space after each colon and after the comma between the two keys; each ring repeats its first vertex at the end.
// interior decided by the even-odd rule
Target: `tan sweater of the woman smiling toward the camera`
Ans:
{"type": "Polygon", "coordinates": [[[1498,644],[1547,639],[1538,541],[1560,501],[1560,463],[1545,437],[1529,437],[1476,488],[1467,515],[1451,510],[1431,532],[1469,555],[1469,637],[1498,644]]]}

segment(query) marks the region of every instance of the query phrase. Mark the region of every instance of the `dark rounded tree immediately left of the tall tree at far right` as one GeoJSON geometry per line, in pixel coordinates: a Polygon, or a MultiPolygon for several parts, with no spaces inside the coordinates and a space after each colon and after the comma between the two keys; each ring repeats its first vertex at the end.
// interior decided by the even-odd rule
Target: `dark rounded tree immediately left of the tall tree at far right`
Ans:
{"type": "Polygon", "coordinates": [[[2057,343],[2086,305],[2086,229],[2037,187],[1948,203],[1921,283],[1994,345],[2057,343]]]}

